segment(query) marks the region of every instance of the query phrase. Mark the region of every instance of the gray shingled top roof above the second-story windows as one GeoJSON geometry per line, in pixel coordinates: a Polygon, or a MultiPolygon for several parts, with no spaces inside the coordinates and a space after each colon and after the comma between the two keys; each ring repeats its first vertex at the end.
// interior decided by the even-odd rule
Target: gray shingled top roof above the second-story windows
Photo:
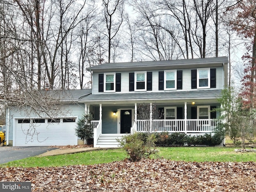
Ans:
{"type": "Polygon", "coordinates": [[[170,68],[170,67],[191,67],[192,64],[197,66],[218,66],[223,63],[228,63],[228,57],[212,57],[212,58],[197,58],[197,59],[179,59],[179,60],[163,60],[163,61],[144,61],[144,62],[120,62],[120,63],[105,63],[86,68],[93,71],[107,71],[113,69],[128,70],[145,68],[170,68]]]}

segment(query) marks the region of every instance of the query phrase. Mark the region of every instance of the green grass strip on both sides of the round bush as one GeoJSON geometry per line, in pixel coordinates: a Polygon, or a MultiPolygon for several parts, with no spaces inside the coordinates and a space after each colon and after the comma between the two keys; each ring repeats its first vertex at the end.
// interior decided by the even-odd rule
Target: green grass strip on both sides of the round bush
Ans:
{"type": "MultiPolygon", "coordinates": [[[[174,161],[187,162],[248,162],[256,161],[256,153],[234,152],[233,147],[159,147],[159,152],[151,158],[165,158],[174,161]]],[[[29,157],[8,162],[0,167],[55,167],[69,165],[101,164],[124,160],[126,153],[123,149],[97,150],[75,154],[65,154],[46,157],[29,157]]]]}

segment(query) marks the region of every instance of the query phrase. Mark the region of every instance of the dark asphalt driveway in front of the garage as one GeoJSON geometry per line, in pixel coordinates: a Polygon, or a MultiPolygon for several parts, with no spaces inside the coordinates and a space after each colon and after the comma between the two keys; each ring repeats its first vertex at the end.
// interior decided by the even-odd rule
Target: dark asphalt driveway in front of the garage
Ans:
{"type": "Polygon", "coordinates": [[[9,147],[0,146],[0,164],[40,155],[57,148],[51,146],[9,147]]]}

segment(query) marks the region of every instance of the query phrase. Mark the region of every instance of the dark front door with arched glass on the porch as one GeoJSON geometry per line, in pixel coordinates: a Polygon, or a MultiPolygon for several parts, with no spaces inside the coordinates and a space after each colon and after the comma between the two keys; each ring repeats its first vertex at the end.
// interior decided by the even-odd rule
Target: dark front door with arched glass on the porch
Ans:
{"type": "Polygon", "coordinates": [[[132,127],[132,110],[121,110],[121,133],[130,133],[132,127]]]}

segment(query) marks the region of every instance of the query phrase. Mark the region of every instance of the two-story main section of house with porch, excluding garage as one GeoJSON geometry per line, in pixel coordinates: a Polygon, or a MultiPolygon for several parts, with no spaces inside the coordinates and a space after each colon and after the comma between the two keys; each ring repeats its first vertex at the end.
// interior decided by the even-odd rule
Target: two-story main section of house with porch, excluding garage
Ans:
{"type": "Polygon", "coordinates": [[[115,136],[134,131],[212,132],[216,112],[211,110],[220,107],[216,99],[227,85],[227,64],[227,57],[219,57],[87,68],[92,94],[80,101],[94,113],[94,146],[114,146],[115,136]],[[148,119],[138,117],[141,104],[149,106],[148,119]],[[159,116],[152,115],[152,106],[159,116]]]}

